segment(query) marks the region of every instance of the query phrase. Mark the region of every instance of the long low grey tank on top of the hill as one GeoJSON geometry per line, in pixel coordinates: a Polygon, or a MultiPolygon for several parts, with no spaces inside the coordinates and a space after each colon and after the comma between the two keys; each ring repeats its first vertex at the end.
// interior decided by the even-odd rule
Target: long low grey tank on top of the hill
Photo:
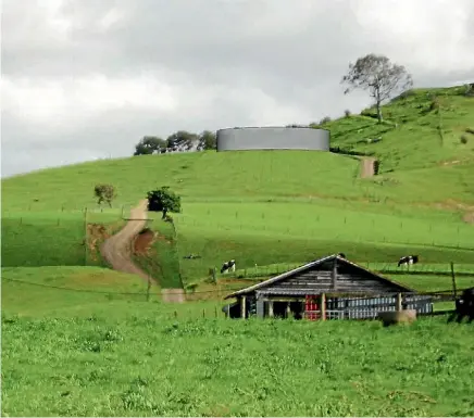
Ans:
{"type": "Polygon", "coordinates": [[[329,131],[311,128],[230,128],[217,130],[217,151],[329,151],[329,131]]]}

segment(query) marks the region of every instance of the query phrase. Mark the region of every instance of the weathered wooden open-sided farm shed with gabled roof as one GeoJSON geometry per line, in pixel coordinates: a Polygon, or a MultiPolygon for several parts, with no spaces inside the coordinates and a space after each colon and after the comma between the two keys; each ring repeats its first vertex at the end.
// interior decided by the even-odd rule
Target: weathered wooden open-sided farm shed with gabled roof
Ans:
{"type": "Polygon", "coordinates": [[[370,271],[339,255],[329,255],[228,294],[230,318],[370,319],[379,312],[433,312],[432,297],[370,271]]]}

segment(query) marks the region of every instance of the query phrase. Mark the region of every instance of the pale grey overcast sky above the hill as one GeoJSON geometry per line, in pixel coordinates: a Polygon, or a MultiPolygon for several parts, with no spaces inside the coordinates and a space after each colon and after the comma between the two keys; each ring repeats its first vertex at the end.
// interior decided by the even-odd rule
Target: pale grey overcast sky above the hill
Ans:
{"type": "Polygon", "coordinates": [[[3,0],[2,177],[132,155],[145,135],[358,112],[349,62],[474,78],[473,0],[3,0]]]}

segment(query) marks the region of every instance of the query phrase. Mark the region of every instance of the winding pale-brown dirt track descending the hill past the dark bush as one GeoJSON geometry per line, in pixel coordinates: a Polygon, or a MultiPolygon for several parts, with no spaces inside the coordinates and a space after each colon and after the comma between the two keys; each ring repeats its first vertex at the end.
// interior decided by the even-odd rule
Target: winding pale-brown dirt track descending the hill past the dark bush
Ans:
{"type": "MultiPolygon", "coordinates": [[[[112,269],[137,275],[147,281],[151,280],[153,284],[158,284],[157,280],[137,267],[132,261],[132,243],[147,224],[147,204],[148,201],[142,200],[137,207],[130,211],[130,217],[125,227],[105,240],[100,248],[100,253],[112,269]]],[[[163,302],[185,302],[183,289],[162,289],[161,293],[163,302]]]]}

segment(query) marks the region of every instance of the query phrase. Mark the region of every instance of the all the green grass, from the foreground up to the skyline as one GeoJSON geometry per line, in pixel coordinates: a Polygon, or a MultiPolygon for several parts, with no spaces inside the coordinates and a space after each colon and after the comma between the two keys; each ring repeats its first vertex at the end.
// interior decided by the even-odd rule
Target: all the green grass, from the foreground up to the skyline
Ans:
{"type": "Polygon", "coordinates": [[[474,286],[474,100],[460,92],[414,90],[383,124],[373,110],[325,124],[333,147],[381,161],[373,178],[342,154],[208,151],[2,179],[2,415],[473,415],[472,325],[225,320],[223,296],[246,280],[205,280],[230,258],[229,278],[250,283],[344,252],[421,292],[451,289],[450,262],[458,289],[474,286]],[[116,187],[113,208],[98,182],[116,187]],[[153,286],[147,303],[142,279],[85,244],[87,224],[117,230],[157,186],[183,213],[177,236],[151,214],[165,240],[139,263],[208,302],[163,304],[153,286]],[[396,267],[408,254],[415,275],[396,267]]]}

